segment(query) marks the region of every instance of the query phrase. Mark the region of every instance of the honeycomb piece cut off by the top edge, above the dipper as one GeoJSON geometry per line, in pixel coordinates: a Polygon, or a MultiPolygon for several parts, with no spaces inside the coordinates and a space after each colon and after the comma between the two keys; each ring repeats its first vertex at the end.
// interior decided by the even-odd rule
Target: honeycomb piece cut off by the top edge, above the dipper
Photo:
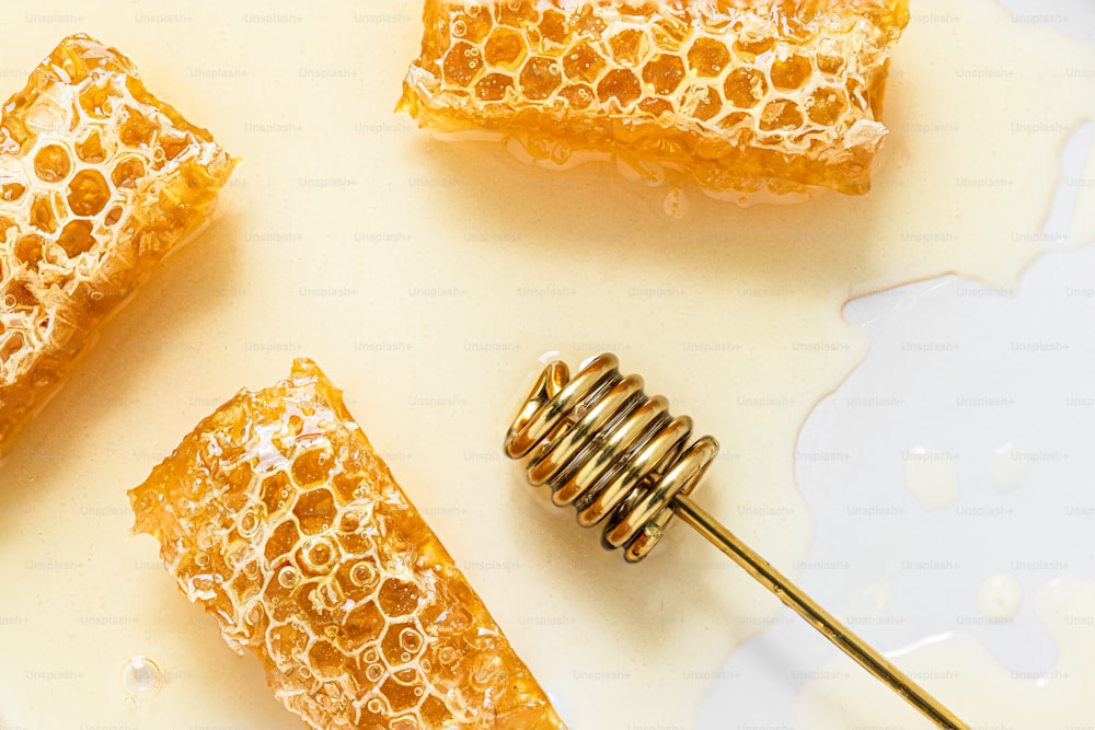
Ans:
{"type": "Polygon", "coordinates": [[[533,161],[609,154],[649,182],[866,193],[908,0],[426,0],[399,108],[533,161]]]}

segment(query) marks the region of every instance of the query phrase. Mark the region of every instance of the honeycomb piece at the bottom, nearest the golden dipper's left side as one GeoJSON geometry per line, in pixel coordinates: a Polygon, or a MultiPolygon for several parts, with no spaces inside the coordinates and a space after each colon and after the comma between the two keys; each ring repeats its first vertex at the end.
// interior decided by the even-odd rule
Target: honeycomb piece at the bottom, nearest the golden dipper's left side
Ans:
{"type": "Polygon", "coordinates": [[[129,497],[310,727],[565,727],[314,362],[240,392],[129,497]]]}

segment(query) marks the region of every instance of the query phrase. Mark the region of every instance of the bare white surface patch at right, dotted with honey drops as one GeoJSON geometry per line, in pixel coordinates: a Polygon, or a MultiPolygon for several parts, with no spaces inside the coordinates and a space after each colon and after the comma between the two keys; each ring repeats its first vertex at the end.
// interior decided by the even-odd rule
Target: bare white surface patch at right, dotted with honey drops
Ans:
{"type": "MultiPolygon", "coordinates": [[[[1070,139],[1067,166],[1091,138],[1070,139]]],[[[1092,719],[1093,277],[1088,244],[1007,292],[944,277],[853,302],[871,352],[799,434],[802,456],[830,456],[798,463],[817,528],[803,581],[976,728],[1092,719]],[[891,488],[902,471],[908,491],[891,488]]],[[[750,650],[806,638],[776,626],[750,650]]],[[[794,711],[765,719],[929,727],[834,654],[796,656],[794,711]]]]}

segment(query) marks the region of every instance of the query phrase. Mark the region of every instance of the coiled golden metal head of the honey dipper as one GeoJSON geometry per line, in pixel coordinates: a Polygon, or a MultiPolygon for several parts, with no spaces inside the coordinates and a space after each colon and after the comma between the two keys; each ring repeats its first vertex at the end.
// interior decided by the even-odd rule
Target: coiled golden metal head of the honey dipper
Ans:
{"type": "Polygon", "coordinates": [[[574,505],[578,523],[603,523],[601,544],[646,557],[718,452],[703,437],[690,443],[692,420],[673,417],[665,397],[647,396],[643,379],[624,376],[613,355],[599,355],[569,376],[553,361],[514,421],[506,453],[525,459],[529,483],[546,484],[552,501],[574,505]]]}

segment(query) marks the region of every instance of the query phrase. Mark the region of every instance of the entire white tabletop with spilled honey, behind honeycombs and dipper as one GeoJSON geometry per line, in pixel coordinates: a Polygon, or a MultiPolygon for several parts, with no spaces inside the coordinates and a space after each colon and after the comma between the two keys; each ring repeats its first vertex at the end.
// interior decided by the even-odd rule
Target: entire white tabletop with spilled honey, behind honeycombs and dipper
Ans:
{"type": "Polygon", "coordinates": [[[913,2],[869,195],[748,209],[416,130],[416,2],[4,5],[4,94],[84,31],[242,164],[0,465],[0,728],[300,727],[126,490],[301,355],[575,730],[924,727],[687,528],[630,567],[525,485],[550,350],[716,436],[696,500],[967,722],[1090,725],[1095,11],[956,4],[913,2]]]}

